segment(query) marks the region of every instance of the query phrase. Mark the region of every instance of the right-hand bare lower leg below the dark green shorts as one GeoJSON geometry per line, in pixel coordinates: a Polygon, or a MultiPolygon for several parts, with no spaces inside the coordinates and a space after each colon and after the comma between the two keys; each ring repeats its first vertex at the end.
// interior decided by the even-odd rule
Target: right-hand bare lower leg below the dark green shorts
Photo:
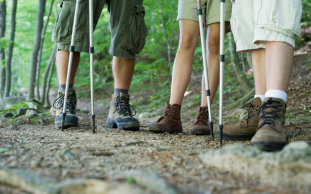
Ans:
{"type": "Polygon", "coordinates": [[[113,57],[113,73],[115,88],[128,90],[131,84],[135,59],[113,57]]]}

